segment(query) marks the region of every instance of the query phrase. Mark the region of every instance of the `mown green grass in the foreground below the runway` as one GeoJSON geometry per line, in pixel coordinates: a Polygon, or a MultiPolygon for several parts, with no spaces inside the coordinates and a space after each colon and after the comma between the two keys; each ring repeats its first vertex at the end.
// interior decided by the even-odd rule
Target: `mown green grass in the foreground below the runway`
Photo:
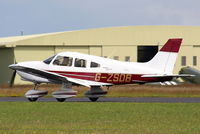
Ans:
{"type": "Polygon", "coordinates": [[[198,134],[198,103],[0,102],[1,134],[198,134]]]}

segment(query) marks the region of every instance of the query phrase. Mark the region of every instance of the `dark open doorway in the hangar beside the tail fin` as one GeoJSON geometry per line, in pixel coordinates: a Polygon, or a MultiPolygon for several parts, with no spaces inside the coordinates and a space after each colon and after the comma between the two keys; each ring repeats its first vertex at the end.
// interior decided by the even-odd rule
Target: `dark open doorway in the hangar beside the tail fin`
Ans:
{"type": "Polygon", "coordinates": [[[147,62],[151,60],[158,52],[158,46],[138,46],[137,61],[147,62]]]}

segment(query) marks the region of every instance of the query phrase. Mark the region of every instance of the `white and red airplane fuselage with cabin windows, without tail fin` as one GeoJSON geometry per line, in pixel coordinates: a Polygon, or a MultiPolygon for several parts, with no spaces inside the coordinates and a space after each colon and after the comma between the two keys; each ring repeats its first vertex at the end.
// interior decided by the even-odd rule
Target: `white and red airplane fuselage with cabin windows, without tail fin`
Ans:
{"type": "MultiPolygon", "coordinates": [[[[55,73],[66,78],[75,78],[97,83],[132,84],[162,82],[172,79],[172,77],[142,77],[142,75],[145,74],[164,74],[164,72],[158,69],[150,68],[147,65],[144,66],[143,63],[121,62],[75,52],[62,52],[45,61],[21,62],[17,65],[55,73]]],[[[23,80],[35,83],[50,82],[48,79],[37,76],[37,74],[31,74],[20,70],[17,72],[23,80]]]]}

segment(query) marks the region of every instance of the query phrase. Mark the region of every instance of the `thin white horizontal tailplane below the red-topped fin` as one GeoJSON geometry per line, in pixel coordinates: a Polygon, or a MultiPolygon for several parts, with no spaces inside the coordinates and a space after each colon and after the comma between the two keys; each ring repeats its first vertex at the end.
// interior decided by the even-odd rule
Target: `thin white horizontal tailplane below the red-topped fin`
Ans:
{"type": "Polygon", "coordinates": [[[195,75],[191,75],[191,74],[171,74],[171,75],[142,75],[141,77],[144,77],[144,78],[152,78],[152,77],[156,77],[156,78],[164,78],[164,77],[193,77],[195,75]]]}

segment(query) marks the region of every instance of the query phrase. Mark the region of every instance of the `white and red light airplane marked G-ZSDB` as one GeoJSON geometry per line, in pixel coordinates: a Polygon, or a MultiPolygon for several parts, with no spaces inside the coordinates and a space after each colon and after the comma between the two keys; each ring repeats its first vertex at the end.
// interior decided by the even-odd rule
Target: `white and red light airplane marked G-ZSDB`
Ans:
{"type": "Polygon", "coordinates": [[[40,83],[62,84],[60,90],[52,93],[58,101],[76,96],[72,85],[89,87],[85,93],[91,101],[107,94],[102,86],[118,84],[144,84],[170,81],[174,77],[191,75],[172,74],[182,39],[169,39],[159,52],[146,63],[122,62],[108,58],[75,52],[61,52],[44,61],[30,61],[12,64],[22,80],[35,84],[26,92],[29,101],[36,101],[47,91],[36,89],[40,83]]]}

